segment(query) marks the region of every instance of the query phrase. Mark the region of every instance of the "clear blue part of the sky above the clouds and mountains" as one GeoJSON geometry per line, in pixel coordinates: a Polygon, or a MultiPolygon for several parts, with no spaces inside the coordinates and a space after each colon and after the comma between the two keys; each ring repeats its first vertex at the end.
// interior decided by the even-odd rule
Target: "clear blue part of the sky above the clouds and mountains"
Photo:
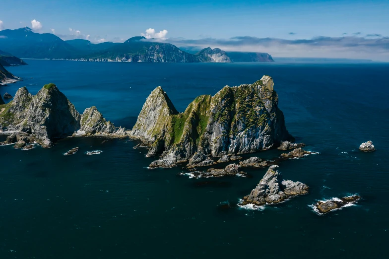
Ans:
{"type": "Polygon", "coordinates": [[[0,29],[31,27],[35,19],[39,32],[91,41],[126,40],[148,28],[167,30],[160,35],[176,44],[242,36],[374,39],[389,37],[388,13],[388,0],[1,0],[0,29]]]}

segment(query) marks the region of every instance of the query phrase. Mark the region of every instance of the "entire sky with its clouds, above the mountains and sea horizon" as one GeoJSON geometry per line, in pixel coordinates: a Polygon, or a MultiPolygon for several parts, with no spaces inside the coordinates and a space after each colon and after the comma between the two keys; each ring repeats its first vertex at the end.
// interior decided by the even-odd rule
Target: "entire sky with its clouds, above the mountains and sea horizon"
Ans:
{"type": "Polygon", "coordinates": [[[389,61],[389,0],[1,0],[0,30],[389,61]]]}

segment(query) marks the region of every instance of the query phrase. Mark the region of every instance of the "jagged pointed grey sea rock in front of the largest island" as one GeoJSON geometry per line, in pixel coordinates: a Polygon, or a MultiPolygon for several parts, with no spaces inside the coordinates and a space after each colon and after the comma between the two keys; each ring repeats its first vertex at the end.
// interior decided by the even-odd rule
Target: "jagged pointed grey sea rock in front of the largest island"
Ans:
{"type": "Polygon", "coordinates": [[[272,165],[251,193],[243,197],[240,205],[278,203],[289,197],[308,194],[308,186],[300,182],[282,180],[278,166],[272,165]]]}

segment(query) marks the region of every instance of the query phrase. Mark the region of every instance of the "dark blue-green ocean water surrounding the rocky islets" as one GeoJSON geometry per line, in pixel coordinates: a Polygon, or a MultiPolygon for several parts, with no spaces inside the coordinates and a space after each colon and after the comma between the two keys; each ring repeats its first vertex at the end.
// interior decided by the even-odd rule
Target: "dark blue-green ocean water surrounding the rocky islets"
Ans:
{"type": "MultiPolygon", "coordinates": [[[[286,126],[306,149],[287,160],[285,179],[310,194],[263,210],[221,209],[250,193],[250,177],[189,179],[131,140],[66,138],[50,149],[0,146],[0,258],[382,258],[389,241],[388,64],[146,64],[27,60],[9,70],[24,81],[0,86],[35,94],[53,82],[82,113],[90,106],[131,128],[158,85],[177,110],[224,85],[274,79],[286,126]],[[362,153],[372,140],[377,151],[362,153]],[[63,153],[72,147],[72,156],[63,153]],[[99,149],[100,155],[85,151],[99,149]],[[319,199],[359,194],[357,205],[323,216],[319,199]]],[[[4,138],[0,137],[1,140],[4,138]]],[[[275,157],[269,150],[255,155],[275,157]]]]}

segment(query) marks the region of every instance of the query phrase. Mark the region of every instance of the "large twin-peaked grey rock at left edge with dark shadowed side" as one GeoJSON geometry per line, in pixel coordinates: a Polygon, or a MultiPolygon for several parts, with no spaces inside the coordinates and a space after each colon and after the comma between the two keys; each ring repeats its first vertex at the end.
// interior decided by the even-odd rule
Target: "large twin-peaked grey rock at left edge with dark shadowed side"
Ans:
{"type": "Polygon", "coordinates": [[[32,133],[44,147],[51,146],[51,138],[68,136],[79,129],[79,113],[54,84],[46,85],[36,95],[20,88],[3,113],[3,129],[32,133]]]}

